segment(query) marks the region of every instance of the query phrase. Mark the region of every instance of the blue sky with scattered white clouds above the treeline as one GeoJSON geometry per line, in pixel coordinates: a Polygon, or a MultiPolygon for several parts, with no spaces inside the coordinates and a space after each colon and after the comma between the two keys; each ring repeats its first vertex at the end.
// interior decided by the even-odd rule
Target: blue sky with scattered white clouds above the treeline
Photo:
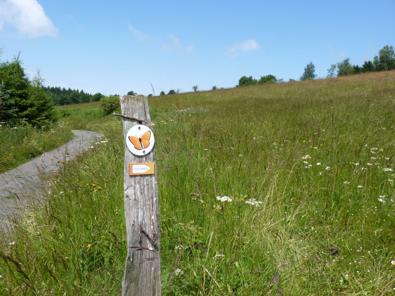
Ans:
{"type": "Polygon", "coordinates": [[[273,74],[318,77],[395,46],[395,1],[0,0],[2,60],[85,92],[158,95],[273,74]]]}

